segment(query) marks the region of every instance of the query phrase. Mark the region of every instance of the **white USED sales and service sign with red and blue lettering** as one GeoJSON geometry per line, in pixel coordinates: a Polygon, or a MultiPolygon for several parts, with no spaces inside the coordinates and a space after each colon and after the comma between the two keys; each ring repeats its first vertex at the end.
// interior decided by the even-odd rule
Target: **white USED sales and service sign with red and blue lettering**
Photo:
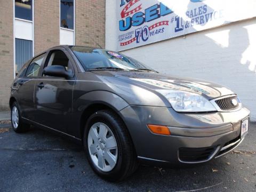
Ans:
{"type": "Polygon", "coordinates": [[[119,0],[118,51],[256,17],[255,0],[119,0]]]}

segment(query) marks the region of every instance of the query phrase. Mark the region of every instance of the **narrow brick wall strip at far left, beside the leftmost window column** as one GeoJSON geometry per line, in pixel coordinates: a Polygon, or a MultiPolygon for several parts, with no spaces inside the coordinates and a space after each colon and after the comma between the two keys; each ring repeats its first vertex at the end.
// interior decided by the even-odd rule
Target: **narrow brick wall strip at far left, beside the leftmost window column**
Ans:
{"type": "Polygon", "coordinates": [[[0,110],[7,110],[13,81],[13,1],[0,4],[0,110]]]}

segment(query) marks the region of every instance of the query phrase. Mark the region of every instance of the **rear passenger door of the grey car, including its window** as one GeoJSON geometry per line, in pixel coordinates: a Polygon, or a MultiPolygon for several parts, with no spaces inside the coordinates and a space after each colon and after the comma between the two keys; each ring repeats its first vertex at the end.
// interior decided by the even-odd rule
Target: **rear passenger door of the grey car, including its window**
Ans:
{"type": "Polygon", "coordinates": [[[46,54],[35,57],[27,68],[23,69],[20,77],[14,82],[16,88],[15,97],[20,106],[21,116],[34,121],[34,85],[39,74],[39,69],[43,65],[46,54]]]}

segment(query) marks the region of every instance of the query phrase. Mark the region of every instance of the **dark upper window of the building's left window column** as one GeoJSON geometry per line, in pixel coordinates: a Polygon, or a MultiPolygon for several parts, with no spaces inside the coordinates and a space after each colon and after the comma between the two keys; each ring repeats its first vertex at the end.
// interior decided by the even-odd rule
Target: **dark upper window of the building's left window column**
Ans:
{"type": "Polygon", "coordinates": [[[32,0],[15,0],[15,18],[32,21],[32,0]]]}

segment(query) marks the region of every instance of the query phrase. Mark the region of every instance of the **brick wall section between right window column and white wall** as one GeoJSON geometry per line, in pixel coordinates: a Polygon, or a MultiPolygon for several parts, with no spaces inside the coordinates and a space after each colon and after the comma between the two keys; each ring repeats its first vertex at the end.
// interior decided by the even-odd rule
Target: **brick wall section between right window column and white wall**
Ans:
{"type": "Polygon", "coordinates": [[[105,0],[76,0],[76,45],[105,47],[105,0]]]}

